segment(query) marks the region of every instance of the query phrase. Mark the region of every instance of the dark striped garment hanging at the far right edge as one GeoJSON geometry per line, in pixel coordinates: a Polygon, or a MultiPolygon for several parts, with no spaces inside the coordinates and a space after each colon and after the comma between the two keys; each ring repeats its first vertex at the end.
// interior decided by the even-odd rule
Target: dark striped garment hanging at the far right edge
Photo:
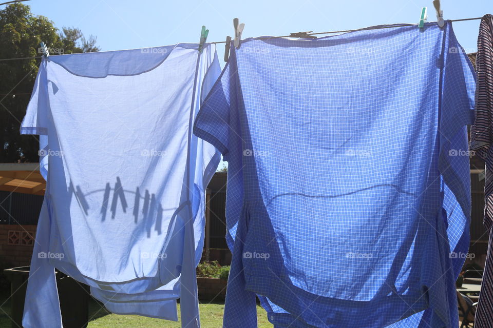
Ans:
{"type": "Polygon", "coordinates": [[[478,83],[476,87],[476,118],[471,129],[471,150],[486,163],[484,224],[490,230],[488,254],[476,312],[477,328],[493,327],[493,156],[490,142],[493,137],[493,16],[481,19],[476,57],[478,83]]]}

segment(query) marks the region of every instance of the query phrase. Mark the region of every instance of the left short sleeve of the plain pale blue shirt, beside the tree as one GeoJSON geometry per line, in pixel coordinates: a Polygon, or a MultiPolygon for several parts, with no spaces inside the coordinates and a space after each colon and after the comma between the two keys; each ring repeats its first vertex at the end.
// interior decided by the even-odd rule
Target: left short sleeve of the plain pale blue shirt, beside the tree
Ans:
{"type": "Polygon", "coordinates": [[[46,77],[46,59],[41,61],[37,72],[31,99],[27,105],[26,116],[22,120],[21,134],[48,134],[48,92],[46,77]]]}

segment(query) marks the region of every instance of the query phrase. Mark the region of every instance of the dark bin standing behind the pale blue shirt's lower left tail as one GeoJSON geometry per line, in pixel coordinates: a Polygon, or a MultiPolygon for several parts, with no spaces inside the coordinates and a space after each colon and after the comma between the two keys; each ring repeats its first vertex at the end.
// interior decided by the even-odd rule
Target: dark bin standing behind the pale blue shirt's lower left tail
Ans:
{"type": "MultiPolygon", "coordinates": [[[[22,327],[29,266],[6,269],[4,273],[11,283],[12,328],[22,327]]],[[[63,327],[86,328],[89,319],[88,286],[58,271],[56,271],[56,285],[60,298],[63,327]]]]}

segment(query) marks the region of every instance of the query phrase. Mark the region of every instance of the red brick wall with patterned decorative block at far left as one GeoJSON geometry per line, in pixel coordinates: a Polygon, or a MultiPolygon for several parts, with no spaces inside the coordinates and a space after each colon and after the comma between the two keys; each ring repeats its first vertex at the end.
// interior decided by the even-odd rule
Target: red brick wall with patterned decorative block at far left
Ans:
{"type": "Polygon", "coordinates": [[[0,263],[8,263],[13,267],[29,265],[35,232],[36,226],[1,224],[0,263]]]}

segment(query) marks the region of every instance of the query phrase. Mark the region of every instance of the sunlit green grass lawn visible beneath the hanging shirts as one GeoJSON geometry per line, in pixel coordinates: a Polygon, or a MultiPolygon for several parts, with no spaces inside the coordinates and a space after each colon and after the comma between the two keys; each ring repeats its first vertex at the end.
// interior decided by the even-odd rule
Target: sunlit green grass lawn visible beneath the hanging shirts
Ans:
{"type": "MultiPolygon", "coordinates": [[[[9,295],[0,295],[0,327],[9,328],[10,300],[9,295]],[[7,301],[6,301],[7,300],[7,301]],[[3,305],[2,305],[3,304],[3,305]]],[[[220,328],[222,326],[222,314],[224,303],[202,303],[200,308],[200,321],[202,328],[220,328]]],[[[178,304],[178,318],[180,317],[180,304],[178,304]]],[[[259,328],[272,328],[267,320],[267,313],[257,305],[257,317],[259,328]]],[[[89,303],[88,328],[181,328],[181,322],[167,321],[154,318],[146,318],[135,315],[111,314],[101,307],[101,304],[91,299],[89,303]]]]}

